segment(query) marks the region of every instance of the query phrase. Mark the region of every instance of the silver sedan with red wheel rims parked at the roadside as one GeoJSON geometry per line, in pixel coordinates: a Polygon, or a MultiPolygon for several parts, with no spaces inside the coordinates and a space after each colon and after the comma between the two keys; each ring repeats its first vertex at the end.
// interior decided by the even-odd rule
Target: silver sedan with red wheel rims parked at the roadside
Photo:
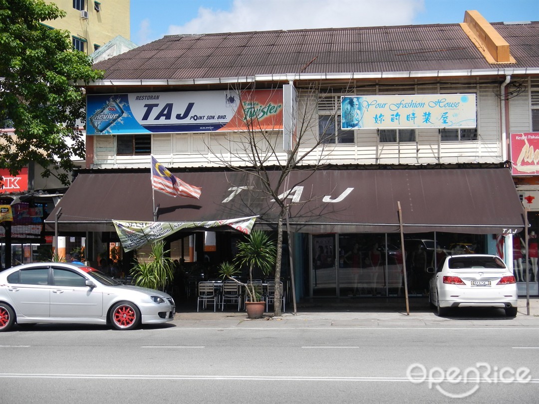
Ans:
{"type": "Polygon", "coordinates": [[[13,324],[112,324],[131,330],[174,319],[164,292],[123,285],[82,264],[40,262],[0,272],[0,331],[13,324]]]}

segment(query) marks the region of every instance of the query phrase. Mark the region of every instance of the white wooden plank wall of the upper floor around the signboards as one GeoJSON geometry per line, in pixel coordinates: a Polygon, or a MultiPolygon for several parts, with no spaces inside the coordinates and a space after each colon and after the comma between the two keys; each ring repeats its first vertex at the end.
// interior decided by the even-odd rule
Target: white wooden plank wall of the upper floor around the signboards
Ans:
{"type": "MultiPolygon", "coordinates": [[[[382,143],[374,129],[355,130],[355,143],[321,145],[303,163],[332,164],[444,164],[497,163],[501,161],[500,86],[441,85],[393,87],[384,90],[375,86],[357,89],[354,94],[448,94],[476,93],[478,138],[476,141],[441,142],[438,129],[417,129],[416,142],[382,143]]],[[[302,136],[301,152],[309,150],[318,136],[317,96],[301,92],[298,103],[298,133],[302,136]]],[[[338,95],[338,93],[334,93],[338,95]]],[[[350,92],[347,93],[350,95],[350,92]]],[[[344,95],[344,93],[343,93],[344,95]]],[[[510,131],[529,131],[529,91],[513,97],[510,106],[510,131]]],[[[243,135],[234,133],[153,134],[152,154],[163,164],[177,168],[247,165],[249,158],[241,146],[243,135]]],[[[286,159],[282,149],[282,133],[275,131],[260,136],[262,150],[273,148],[286,159]],[[271,148],[270,148],[271,146],[271,148]]],[[[146,168],[150,156],[116,156],[115,136],[95,136],[93,168],[146,168]]],[[[275,164],[275,155],[268,152],[266,164],[275,164]]]]}

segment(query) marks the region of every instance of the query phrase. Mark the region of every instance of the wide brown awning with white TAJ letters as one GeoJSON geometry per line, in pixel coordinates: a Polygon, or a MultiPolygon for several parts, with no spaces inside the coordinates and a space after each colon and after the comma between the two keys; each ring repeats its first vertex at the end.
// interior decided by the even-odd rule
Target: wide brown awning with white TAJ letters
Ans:
{"type": "MultiPolygon", "coordinates": [[[[280,172],[273,172],[273,180],[280,172]]],[[[257,227],[274,227],[277,204],[244,172],[176,174],[201,186],[200,199],[155,192],[159,221],[206,221],[260,215],[257,227]]],[[[294,171],[286,190],[290,224],[309,233],[404,231],[507,233],[524,226],[523,208],[510,172],[489,169],[294,171]]],[[[285,192],[285,187],[281,192],[285,192]]],[[[148,172],[80,173],[46,220],[59,231],[114,231],[112,220],[153,221],[148,172]]]]}

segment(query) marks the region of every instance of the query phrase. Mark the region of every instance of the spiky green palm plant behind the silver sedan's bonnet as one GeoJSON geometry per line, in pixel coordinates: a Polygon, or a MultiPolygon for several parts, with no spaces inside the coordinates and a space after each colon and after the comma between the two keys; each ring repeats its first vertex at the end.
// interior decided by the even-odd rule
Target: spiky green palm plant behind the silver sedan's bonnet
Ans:
{"type": "Polygon", "coordinates": [[[167,256],[163,242],[151,245],[151,254],[147,260],[139,259],[131,269],[133,282],[137,286],[150,289],[163,289],[174,279],[174,262],[167,256]]]}

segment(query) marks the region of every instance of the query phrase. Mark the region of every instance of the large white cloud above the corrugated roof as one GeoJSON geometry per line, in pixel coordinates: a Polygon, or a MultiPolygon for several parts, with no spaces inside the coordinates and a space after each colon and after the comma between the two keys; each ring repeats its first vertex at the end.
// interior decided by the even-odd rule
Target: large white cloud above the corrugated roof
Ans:
{"type": "Polygon", "coordinates": [[[198,9],[168,34],[407,25],[423,0],[234,0],[230,10],[198,9]]]}

